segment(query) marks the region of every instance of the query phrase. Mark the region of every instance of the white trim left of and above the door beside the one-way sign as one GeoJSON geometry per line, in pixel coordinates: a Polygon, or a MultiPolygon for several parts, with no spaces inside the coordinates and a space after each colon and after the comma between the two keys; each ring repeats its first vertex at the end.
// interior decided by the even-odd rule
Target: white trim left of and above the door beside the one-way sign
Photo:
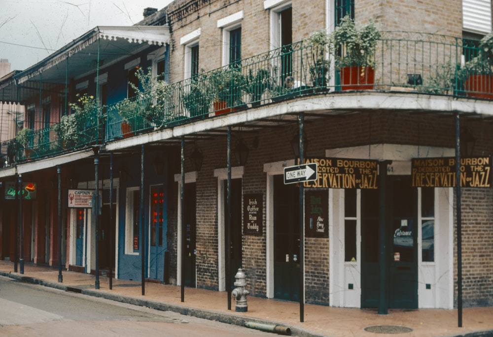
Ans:
{"type": "Polygon", "coordinates": [[[284,167],[293,166],[294,159],[264,164],[267,173],[265,232],[266,232],[266,296],[274,298],[274,177],[284,173],[284,167]]]}

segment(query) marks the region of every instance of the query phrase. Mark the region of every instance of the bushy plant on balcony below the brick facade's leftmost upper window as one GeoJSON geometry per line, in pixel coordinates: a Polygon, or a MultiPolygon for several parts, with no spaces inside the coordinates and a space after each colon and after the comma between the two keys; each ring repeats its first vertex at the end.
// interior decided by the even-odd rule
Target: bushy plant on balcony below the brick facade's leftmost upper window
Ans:
{"type": "Polygon", "coordinates": [[[190,80],[190,85],[182,90],[181,98],[190,117],[207,116],[212,97],[208,92],[207,75],[201,72],[190,80]]]}

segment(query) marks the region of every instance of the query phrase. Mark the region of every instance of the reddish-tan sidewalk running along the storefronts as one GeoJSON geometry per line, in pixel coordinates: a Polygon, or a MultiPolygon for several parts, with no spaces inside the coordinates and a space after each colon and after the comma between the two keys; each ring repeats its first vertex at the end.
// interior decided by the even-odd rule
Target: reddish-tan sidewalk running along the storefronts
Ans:
{"type": "Polygon", "coordinates": [[[95,290],[94,275],[67,271],[63,271],[62,275],[63,282],[59,283],[58,269],[29,263],[25,264],[24,274],[21,275],[14,273],[13,262],[0,261],[0,276],[242,326],[248,321],[277,324],[290,328],[293,336],[397,336],[396,331],[392,334],[365,331],[364,328],[369,326],[412,329],[411,332],[398,334],[403,337],[493,336],[493,307],[464,308],[462,328],[457,327],[457,310],[445,309],[389,309],[387,315],[379,315],[372,309],[305,304],[304,322],[300,322],[300,305],[296,302],[248,296],[248,311],[236,312],[234,300],[231,302],[232,310],[227,309],[226,292],[185,288],[182,303],[181,288],[178,286],[146,282],[145,295],[142,296],[141,282],[113,279],[112,290],[109,290],[109,279],[101,276],[100,289],[95,290]],[[473,334],[481,331],[488,333],[473,334]]]}

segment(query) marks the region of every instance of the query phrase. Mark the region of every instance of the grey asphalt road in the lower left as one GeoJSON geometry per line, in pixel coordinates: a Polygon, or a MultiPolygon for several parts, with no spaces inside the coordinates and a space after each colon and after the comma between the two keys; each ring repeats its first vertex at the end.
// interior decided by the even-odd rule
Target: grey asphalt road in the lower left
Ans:
{"type": "Polygon", "coordinates": [[[273,334],[0,276],[2,336],[272,337],[273,334]]]}

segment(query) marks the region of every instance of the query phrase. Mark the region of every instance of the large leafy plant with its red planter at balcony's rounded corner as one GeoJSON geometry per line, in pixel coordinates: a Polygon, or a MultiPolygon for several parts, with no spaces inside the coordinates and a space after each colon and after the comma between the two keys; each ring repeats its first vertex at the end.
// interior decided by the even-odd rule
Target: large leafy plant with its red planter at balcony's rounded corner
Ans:
{"type": "Polygon", "coordinates": [[[338,51],[335,65],[341,71],[342,90],[371,90],[375,83],[375,48],[382,33],[375,23],[356,29],[354,20],[345,16],[331,34],[338,51]]]}

